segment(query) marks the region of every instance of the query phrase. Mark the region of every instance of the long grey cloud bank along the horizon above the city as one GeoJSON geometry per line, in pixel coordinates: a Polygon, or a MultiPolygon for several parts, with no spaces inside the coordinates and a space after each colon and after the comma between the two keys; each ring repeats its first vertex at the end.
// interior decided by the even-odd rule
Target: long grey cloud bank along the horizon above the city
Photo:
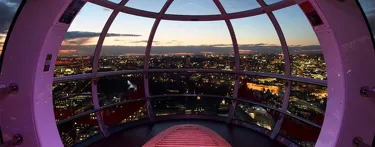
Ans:
{"type": "MultiPolygon", "coordinates": [[[[95,45],[63,45],[59,50],[60,57],[93,56],[95,45]]],[[[289,46],[290,54],[321,54],[318,45],[289,46]]],[[[144,56],[145,46],[103,46],[101,56],[144,56]]],[[[282,54],[282,47],[274,44],[239,44],[240,55],[246,54],[282,54]]],[[[212,44],[199,46],[152,46],[150,55],[207,55],[234,54],[232,44],[212,44]]]]}

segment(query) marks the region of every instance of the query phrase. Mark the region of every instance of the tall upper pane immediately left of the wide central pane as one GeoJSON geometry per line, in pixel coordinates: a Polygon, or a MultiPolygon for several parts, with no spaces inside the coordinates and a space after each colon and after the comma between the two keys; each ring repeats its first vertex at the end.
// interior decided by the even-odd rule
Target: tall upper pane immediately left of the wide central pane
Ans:
{"type": "Polygon", "coordinates": [[[103,43],[99,72],[143,69],[153,24],[154,19],[120,13],[103,43]]]}

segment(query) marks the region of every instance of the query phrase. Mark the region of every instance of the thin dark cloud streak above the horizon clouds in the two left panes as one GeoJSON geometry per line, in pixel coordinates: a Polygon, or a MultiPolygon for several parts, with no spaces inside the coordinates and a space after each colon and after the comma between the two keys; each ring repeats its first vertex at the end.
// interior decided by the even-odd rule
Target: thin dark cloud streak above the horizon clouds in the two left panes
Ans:
{"type": "MultiPolygon", "coordinates": [[[[93,38],[99,37],[100,33],[98,32],[83,32],[83,31],[71,31],[65,34],[65,40],[77,39],[77,38],[93,38]]],[[[106,37],[140,37],[142,35],[138,34],[117,34],[117,33],[108,33],[106,37]]]]}

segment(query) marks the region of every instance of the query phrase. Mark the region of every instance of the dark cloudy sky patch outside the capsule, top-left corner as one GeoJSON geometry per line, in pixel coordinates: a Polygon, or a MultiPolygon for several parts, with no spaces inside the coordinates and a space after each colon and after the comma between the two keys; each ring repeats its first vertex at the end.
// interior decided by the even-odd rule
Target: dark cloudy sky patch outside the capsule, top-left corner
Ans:
{"type": "Polygon", "coordinates": [[[0,33],[6,33],[21,0],[0,1],[0,33]]]}

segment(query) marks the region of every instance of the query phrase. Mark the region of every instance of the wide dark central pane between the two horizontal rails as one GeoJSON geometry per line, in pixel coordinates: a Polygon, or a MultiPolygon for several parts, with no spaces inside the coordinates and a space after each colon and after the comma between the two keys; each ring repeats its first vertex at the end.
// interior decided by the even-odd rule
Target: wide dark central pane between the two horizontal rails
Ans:
{"type": "Polygon", "coordinates": [[[150,74],[150,94],[209,94],[233,96],[234,75],[223,73],[150,74]]]}

